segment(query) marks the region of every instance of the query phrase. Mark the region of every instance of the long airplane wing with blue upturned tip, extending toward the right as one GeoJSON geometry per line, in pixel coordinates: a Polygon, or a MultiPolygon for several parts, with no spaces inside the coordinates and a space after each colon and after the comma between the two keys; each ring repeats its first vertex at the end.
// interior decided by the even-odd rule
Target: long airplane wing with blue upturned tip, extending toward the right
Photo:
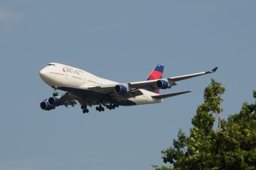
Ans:
{"type": "MultiPolygon", "coordinates": [[[[216,72],[218,67],[215,67],[211,71],[206,71],[206,72],[199,72],[195,74],[188,74],[184,76],[176,76],[176,77],[170,77],[170,78],[162,78],[162,79],[156,79],[156,80],[148,80],[148,81],[141,81],[141,82],[130,82],[130,83],[122,83],[122,84],[106,84],[106,85],[89,85],[87,86],[88,89],[94,91],[94,92],[99,92],[103,94],[110,94],[114,92],[114,87],[116,85],[123,85],[125,86],[129,91],[126,93],[129,95],[129,93],[132,93],[135,90],[146,88],[146,90],[153,91],[155,89],[158,89],[156,87],[156,82],[158,80],[164,80],[165,82],[168,82],[170,86],[175,86],[177,85],[175,82],[180,81],[180,80],[185,80],[188,78],[193,78],[196,76],[202,76],[204,74],[210,74],[216,72]]],[[[170,88],[170,87],[168,87],[170,88]]],[[[133,94],[129,95],[133,96],[133,94]]]]}

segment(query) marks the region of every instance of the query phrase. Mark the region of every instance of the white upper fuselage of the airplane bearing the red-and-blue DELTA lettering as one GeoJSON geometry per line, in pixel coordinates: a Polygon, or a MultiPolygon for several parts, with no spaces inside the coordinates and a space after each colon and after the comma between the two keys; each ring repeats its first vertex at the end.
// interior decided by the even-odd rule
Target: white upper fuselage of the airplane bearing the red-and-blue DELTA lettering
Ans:
{"type": "MultiPolygon", "coordinates": [[[[88,88],[89,85],[118,84],[118,82],[100,78],[84,70],[59,63],[48,64],[48,66],[40,70],[40,77],[49,86],[64,91],[69,91],[68,89],[90,90],[88,88]]],[[[162,102],[162,99],[154,99],[151,97],[158,94],[144,89],[140,89],[140,91],[143,95],[128,99],[134,102],[134,105],[162,102]]]]}

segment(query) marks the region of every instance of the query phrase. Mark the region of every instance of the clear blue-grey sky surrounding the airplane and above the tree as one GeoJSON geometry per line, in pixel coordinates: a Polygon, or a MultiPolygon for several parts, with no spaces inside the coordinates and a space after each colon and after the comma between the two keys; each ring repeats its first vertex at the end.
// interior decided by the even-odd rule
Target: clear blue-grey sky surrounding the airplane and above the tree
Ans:
{"type": "MultiPolygon", "coordinates": [[[[178,128],[189,134],[210,78],[226,87],[222,117],[255,102],[255,1],[60,1],[0,3],[0,169],[141,170],[163,164],[178,128]],[[118,82],[211,70],[161,94],[192,90],[161,104],[82,114],[41,110],[52,88],[49,62],[118,82]]],[[[61,93],[59,91],[59,93],[61,93]]],[[[168,166],[168,165],[167,165],[168,166]]]]}

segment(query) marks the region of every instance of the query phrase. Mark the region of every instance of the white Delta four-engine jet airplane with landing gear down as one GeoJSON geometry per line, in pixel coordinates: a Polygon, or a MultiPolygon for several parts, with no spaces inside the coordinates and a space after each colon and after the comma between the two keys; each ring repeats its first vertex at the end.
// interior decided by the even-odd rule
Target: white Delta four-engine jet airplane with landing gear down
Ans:
{"type": "Polygon", "coordinates": [[[82,112],[88,113],[87,106],[94,105],[97,105],[96,110],[101,112],[105,110],[104,106],[112,110],[119,106],[161,103],[164,98],[192,91],[159,94],[160,89],[176,86],[176,82],[180,80],[214,73],[217,68],[206,72],[162,78],[164,66],[157,64],[145,81],[118,83],[79,68],[51,62],[40,70],[39,75],[54,89],[54,93],[53,97],[40,102],[40,107],[42,110],[52,110],[63,105],[74,107],[79,103],[82,112]],[[59,96],[57,90],[63,90],[65,93],[59,96]]]}

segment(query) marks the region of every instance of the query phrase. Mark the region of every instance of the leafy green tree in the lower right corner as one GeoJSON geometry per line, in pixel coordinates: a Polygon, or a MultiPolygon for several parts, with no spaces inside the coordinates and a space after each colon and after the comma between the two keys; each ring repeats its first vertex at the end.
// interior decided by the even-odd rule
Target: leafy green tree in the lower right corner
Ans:
{"type": "MultiPolygon", "coordinates": [[[[221,95],[225,88],[212,82],[204,90],[204,103],[192,118],[193,127],[186,136],[180,129],[178,139],[162,150],[164,163],[156,170],[256,170],[256,104],[244,103],[239,113],[221,120],[221,95]],[[213,130],[215,118],[218,129],[213,130]]],[[[253,92],[256,98],[256,91],[253,92]]]]}

